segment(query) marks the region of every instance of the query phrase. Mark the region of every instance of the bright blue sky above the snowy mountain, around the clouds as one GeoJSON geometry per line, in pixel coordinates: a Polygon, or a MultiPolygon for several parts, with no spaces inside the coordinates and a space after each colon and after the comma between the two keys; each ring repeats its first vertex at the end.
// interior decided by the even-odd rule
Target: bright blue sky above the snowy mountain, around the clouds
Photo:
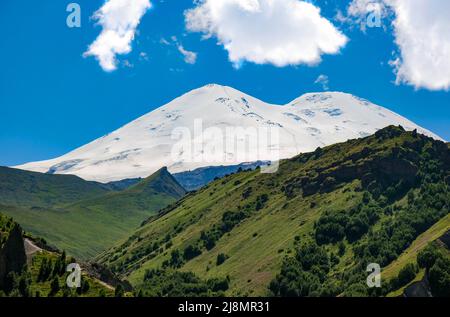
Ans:
{"type": "Polygon", "coordinates": [[[0,165],[62,155],[208,83],[283,104],[322,91],[314,83],[321,74],[328,76],[330,90],[369,99],[450,139],[450,93],[396,85],[388,63],[397,49],[391,21],[385,18],[385,28],[365,32],[342,24],[334,17],[345,11],[344,1],[314,1],[349,39],[339,54],[323,55],[314,66],[243,62],[238,69],[217,39],[186,30],[183,12],[194,7],[192,1],[153,1],[132,52],[118,56],[113,72],[82,56],[101,31],[90,17],[104,1],[78,0],[81,28],[66,26],[70,2],[0,2],[0,165]],[[197,53],[194,64],[185,62],[173,36],[197,53]]]}

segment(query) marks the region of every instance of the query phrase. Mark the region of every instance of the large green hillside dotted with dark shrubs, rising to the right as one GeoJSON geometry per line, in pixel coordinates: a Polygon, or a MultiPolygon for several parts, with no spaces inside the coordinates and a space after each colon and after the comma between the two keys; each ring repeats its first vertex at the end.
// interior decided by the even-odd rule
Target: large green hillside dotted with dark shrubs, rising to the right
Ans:
{"type": "Polygon", "coordinates": [[[447,144],[388,127],[217,180],[97,259],[149,296],[386,295],[394,286],[368,289],[366,266],[448,215],[449,167],[447,144]]]}

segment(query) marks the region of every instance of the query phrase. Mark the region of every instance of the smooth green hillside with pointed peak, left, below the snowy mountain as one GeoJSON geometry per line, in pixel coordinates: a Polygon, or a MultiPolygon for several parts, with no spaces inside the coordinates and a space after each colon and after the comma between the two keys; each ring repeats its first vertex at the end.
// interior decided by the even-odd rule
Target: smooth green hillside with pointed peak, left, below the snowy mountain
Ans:
{"type": "Polygon", "coordinates": [[[81,259],[126,238],[144,219],[185,193],[165,168],[120,192],[78,177],[2,170],[0,212],[81,259]],[[22,180],[29,184],[20,185],[22,180]]]}

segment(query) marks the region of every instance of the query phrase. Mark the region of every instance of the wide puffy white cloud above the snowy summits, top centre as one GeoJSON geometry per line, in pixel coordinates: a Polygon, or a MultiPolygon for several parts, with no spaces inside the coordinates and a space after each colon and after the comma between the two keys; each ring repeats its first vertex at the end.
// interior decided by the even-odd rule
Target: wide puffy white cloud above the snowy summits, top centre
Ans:
{"type": "Polygon", "coordinates": [[[318,7],[299,0],[202,0],[185,20],[189,31],[216,37],[235,66],[316,64],[347,43],[318,7]]]}

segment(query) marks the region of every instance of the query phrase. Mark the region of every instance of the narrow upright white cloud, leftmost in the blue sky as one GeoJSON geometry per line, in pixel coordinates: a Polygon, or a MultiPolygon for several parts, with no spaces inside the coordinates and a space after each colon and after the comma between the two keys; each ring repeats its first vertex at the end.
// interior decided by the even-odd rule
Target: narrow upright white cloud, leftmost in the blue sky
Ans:
{"type": "Polygon", "coordinates": [[[142,16],[151,7],[149,0],[108,0],[95,12],[102,26],[97,39],[83,56],[95,56],[105,71],[117,68],[116,55],[131,52],[131,42],[142,16]]]}

